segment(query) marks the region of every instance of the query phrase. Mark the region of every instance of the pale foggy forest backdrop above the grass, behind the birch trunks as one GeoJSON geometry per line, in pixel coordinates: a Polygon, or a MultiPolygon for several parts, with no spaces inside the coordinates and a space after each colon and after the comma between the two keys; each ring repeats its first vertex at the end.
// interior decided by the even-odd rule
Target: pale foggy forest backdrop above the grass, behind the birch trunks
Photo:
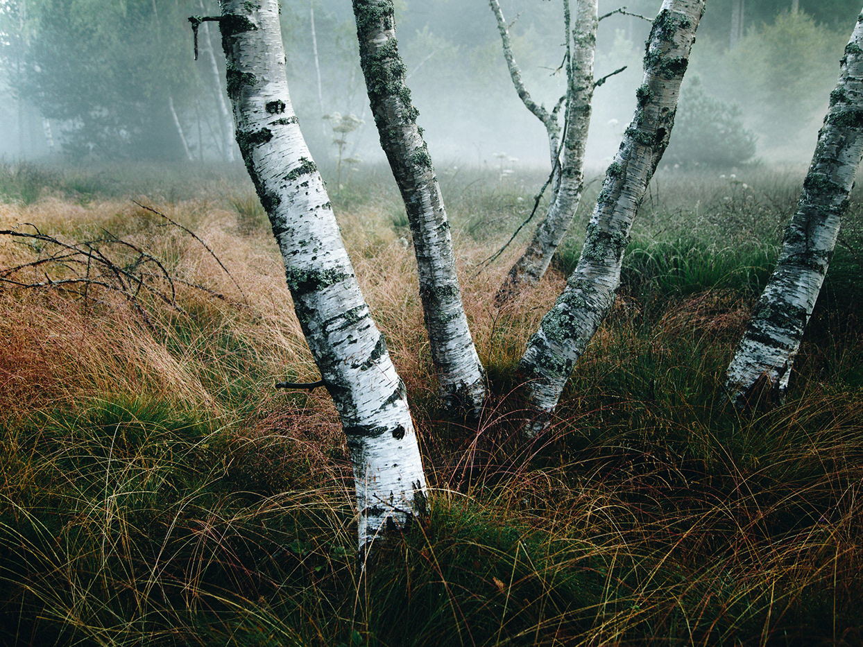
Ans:
{"type": "MultiPolygon", "coordinates": [[[[313,7],[309,0],[282,3],[294,110],[316,159],[335,160],[341,148],[350,173],[383,154],[369,115],[350,2],[313,2],[313,7]],[[341,147],[334,143],[336,113],[360,120],[358,128],[342,135],[341,147]]],[[[709,2],[666,165],[809,160],[860,9],[855,3],[800,0],[794,13],[791,0],[709,2]],[[716,129],[721,136],[708,136],[716,129]],[[720,150],[734,137],[744,143],[748,138],[755,147],[720,150]]],[[[548,166],[545,129],[513,89],[488,2],[397,0],[396,5],[407,84],[437,165],[548,166]]],[[[632,0],[627,11],[652,17],[659,5],[659,0],[632,0]]],[[[551,107],[565,90],[562,0],[501,0],[501,8],[512,23],[513,49],[528,91],[551,107]]],[[[617,0],[600,2],[601,15],[619,8],[617,0]]],[[[214,55],[202,29],[201,56],[192,60],[186,21],[202,13],[216,15],[217,4],[0,0],[0,154],[6,160],[75,163],[224,160],[217,95],[224,93],[224,56],[211,23],[214,55]],[[221,74],[220,90],[213,62],[221,74]]],[[[589,166],[610,160],[633,115],[649,28],[646,20],[622,13],[600,24],[595,78],[627,68],[595,93],[589,166]]]]}

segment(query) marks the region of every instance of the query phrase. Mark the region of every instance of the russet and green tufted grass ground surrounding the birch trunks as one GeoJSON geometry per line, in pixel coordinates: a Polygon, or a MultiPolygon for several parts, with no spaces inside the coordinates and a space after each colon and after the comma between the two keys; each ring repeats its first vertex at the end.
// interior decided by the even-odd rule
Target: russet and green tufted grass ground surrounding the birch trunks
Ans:
{"type": "Polygon", "coordinates": [[[438,408],[387,170],[333,187],[431,492],[361,575],[336,411],[274,389],[318,374],[243,168],[0,165],[0,229],[24,235],[0,235],[0,643],[863,643],[860,192],[787,399],[738,412],[722,386],[803,172],[657,174],[532,444],[513,368],[600,181],[499,308],[532,225],[483,261],[544,178],[438,169],[491,391],[470,425],[438,408]]]}

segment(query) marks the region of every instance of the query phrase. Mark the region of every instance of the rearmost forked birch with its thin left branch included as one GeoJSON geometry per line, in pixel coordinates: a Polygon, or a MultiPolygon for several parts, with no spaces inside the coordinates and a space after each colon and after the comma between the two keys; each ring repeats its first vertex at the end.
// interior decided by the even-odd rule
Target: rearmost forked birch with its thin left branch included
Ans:
{"type": "MultiPolygon", "coordinates": [[[[551,112],[537,105],[521,81],[519,67],[513,56],[507,23],[504,21],[498,0],[489,0],[503,41],[504,57],[516,91],[528,110],[545,124],[551,150],[551,168],[554,190],[545,219],[533,233],[524,254],[510,268],[507,280],[498,292],[498,301],[504,300],[520,286],[539,281],[551,264],[551,258],[564,240],[576,216],[584,187],[584,149],[590,126],[591,102],[595,82],[593,77],[596,29],[599,26],[597,0],[580,0],[576,9],[576,27],[570,32],[570,3],[564,0],[564,28],[566,34],[566,115],[563,133],[564,156],[559,160],[560,126],[557,122],[558,103],[551,112]],[[570,35],[571,34],[571,35],[570,35]]],[[[604,79],[603,79],[604,80],[604,79]]]]}

